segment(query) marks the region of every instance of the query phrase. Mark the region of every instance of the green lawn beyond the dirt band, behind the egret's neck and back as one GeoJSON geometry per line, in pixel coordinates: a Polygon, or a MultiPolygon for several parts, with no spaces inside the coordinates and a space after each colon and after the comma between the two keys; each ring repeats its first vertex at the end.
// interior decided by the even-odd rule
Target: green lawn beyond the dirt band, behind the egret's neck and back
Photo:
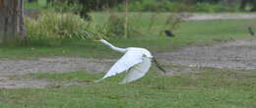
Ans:
{"type": "MultiPolygon", "coordinates": [[[[131,14],[136,16],[136,14],[131,14]]],[[[139,16],[137,14],[137,16],[139,16]]],[[[166,14],[160,15],[162,20],[157,20],[152,29],[148,29],[150,14],[142,15],[141,24],[134,22],[134,27],[142,31],[143,36],[136,35],[130,39],[108,39],[110,43],[119,47],[145,47],[153,53],[171,51],[181,46],[191,44],[206,45],[215,42],[229,41],[235,39],[253,39],[247,32],[247,27],[256,28],[253,20],[212,20],[212,21],[191,21],[182,23],[174,29],[175,37],[169,38],[160,35],[160,29],[164,27],[166,14]]],[[[134,17],[135,18],[135,17],[134,17]]],[[[159,18],[159,19],[160,19],[159,18]]],[[[99,19],[103,21],[103,14],[95,13],[95,20],[98,25],[99,19]]],[[[139,18],[136,18],[139,19],[139,18]]],[[[90,40],[73,40],[63,44],[58,41],[50,41],[53,45],[40,45],[43,42],[35,41],[32,46],[0,46],[0,58],[36,58],[36,57],[116,57],[119,54],[111,51],[101,43],[90,40]],[[36,43],[35,43],[36,42],[36,43]],[[37,44],[37,45],[36,45],[37,44]],[[56,44],[56,45],[54,45],[56,44]]]]}

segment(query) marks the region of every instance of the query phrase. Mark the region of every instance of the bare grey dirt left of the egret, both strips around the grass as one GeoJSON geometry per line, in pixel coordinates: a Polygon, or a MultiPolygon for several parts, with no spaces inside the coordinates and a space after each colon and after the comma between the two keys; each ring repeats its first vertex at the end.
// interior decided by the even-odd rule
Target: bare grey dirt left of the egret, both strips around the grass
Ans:
{"type": "Polygon", "coordinates": [[[43,88],[87,84],[79,81],[47,81],[47,80],[12,80],[10,76],[22,76],[32,73],[67,73],[84,71],[88,73],[104,73],[116,60],[87,58],[39,58],[37,60],[0,60],[0,88],[43,88]]]}

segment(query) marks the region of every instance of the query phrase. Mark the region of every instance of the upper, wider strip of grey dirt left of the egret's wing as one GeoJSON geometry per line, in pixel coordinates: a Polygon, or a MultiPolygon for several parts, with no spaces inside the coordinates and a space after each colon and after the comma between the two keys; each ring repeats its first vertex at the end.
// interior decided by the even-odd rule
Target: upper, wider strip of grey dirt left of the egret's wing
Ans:
{"type": "Polygon", "coordinates": [[[86,71],[102,73],[107,71],[115,60],[87,58],[39,58],[37,60],[0,60],[1,76],[26,75],[32,73],[66,73],[86,71]]]}

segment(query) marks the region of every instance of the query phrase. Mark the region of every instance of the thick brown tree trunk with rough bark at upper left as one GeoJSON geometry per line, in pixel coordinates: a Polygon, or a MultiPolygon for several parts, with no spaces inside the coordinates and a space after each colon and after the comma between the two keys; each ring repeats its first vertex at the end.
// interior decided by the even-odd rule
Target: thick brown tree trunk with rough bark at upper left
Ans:
{"type": "Polygon", "coordinates": [[[0,43],[25,39],[24,0],[0,0],[0,43]]]}

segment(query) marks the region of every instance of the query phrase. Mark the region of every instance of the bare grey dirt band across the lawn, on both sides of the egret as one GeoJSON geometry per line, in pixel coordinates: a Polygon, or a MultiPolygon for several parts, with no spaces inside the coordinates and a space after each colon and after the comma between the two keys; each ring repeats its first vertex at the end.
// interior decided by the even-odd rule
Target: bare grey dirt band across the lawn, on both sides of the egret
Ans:
{"type": "MultiPolygon", "coordinates": [[[[172,52],[156,55],[165,66],[185,68],[167,68],[167,75],[195,73],[190,67],[212,67],[231,70],[256,70],[256,40],[236,40],[211,46],[184,47],[172,52]]],[[[116,60],[87,58],[39,58],[38,60],[0,60],[0,88],[46,87],[52,85],[70,85],[80,82],[57,82],[44,80],[12,80],[9,76],[21,76],[30,73],[67,73],[86,71],[104,73],[116,60]]]]}

